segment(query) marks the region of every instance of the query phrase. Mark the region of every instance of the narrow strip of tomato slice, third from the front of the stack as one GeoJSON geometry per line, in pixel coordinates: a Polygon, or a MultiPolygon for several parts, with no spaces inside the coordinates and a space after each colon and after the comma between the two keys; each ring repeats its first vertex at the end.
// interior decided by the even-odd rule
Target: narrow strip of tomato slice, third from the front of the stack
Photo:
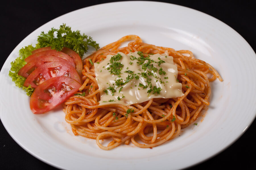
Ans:
{"type": "MultiPolygon", "coordinates": [[[[23,77],[28,77],[32,71],[34,71],[37,67],[44,63],[52,62],[52,61],[63,61],[68,62],[67,60],[57,57],[57,56],[41,56],[38,57],[37,60],[30,61],[26,65],[24,65],[20,71],[18,72],[18,75],[23,77]]],[[[71,64],[71,63],[69,63],[71,64]]]]}

